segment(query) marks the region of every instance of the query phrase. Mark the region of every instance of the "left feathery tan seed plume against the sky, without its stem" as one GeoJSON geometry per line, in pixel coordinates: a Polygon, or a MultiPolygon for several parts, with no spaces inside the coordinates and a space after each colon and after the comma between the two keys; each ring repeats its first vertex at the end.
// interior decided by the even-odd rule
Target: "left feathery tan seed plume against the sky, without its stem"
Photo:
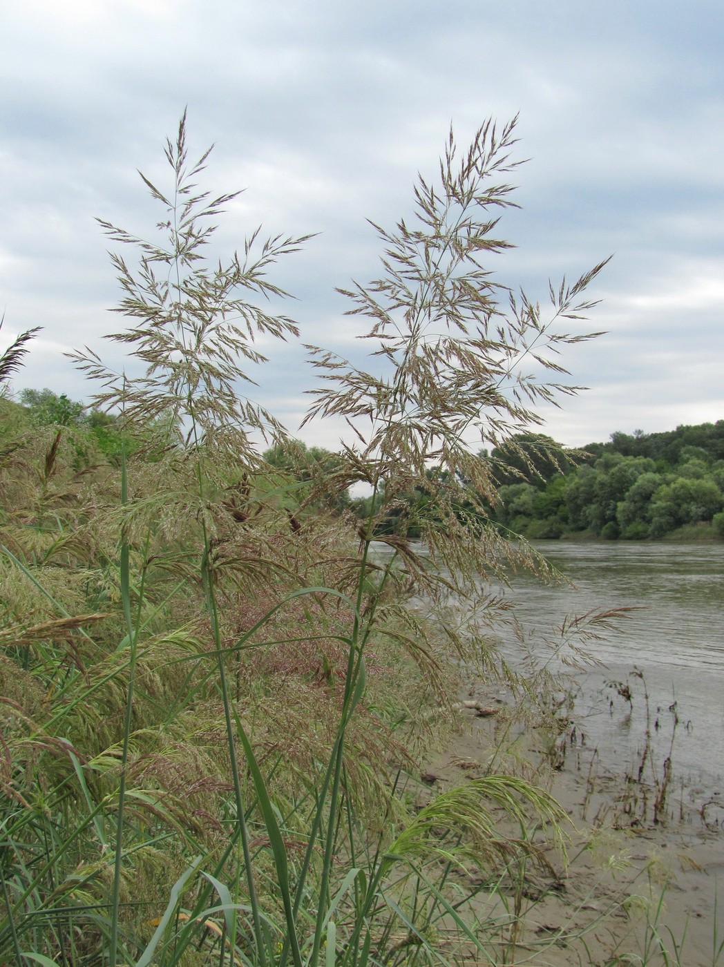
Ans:
{"type": "Polygon", "coordinates": [[[263,307],[288,293],[267,278],[277,259],[297,251],[311,236],[276,236],[266,241],[256,229],[246,238],[242,253],[226,264],[210,263],[204,247],[212,242],[217,218],[239,192],[210,198],[197,191],[195,179],[203,172],[209,148],[198,161],[189,161],[186,112],[175,141],[167,139],[165,156],[172,170],[170,190],[160,190],[141,173],[141,179],[164,210],[159,221],[163,239],[145,241],[106,220],[101,227],[113,242],[135,249],[138,263],[130,265],[111,254],[124,297],[114,309],[133,320],[130,327],[107,338],[128,346],[146,366],[144,376],[128,380],[104,366],[96,353],[72,358],[104,389],[95,397],[102,407],[119,407],[131,425],[168,419],[196,443],[221,452],[248,454],[249,433],[266,436],[283,431],[263,408],[240,397],[240,380],[253,384],[240,361],[257,366],[266,357],[255,348],[258,336],[285,339],[297,335],[293,319],[263,307]],[[262,304],[249,301],[261,299],[262,304]],[[248,298],[247,298],[248,297],[248,298]]]}

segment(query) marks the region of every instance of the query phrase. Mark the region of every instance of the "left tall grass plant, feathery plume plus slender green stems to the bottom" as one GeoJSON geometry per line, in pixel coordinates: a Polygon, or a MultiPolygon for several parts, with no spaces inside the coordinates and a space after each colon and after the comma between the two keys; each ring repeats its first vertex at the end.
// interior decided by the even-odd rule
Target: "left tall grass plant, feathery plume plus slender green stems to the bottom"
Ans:
{"type": "MultiPolygon", "coordinates": [[[[246,832],[246,801],[238,763],[238,743],[246,742],[238,712],[230,699],[226,658],[223,654],[223,634],[217,597],[218,573],[215,553],[216,535],[214,510],[210,497],[215,490],[229,484],[229,466],[236,480],[258,462],[250,434],[254,431],[274,439],[283,437],[283,429],[272,414],[239,396],[240,381],[253,379],[243,368],[265,362],[255,348],[259,335],[285,338],[296,335],[297,328],[288,316],[275,315],[259,305],[258,300],[287,295],[266,277],[266,271],[277,258],[293,252],[304,243],[303,238],[275,237],[260,241],[258,230],[249,236],[243,253],[234,252],[222,264],[210,265],[204,257],[204,247],[216,230],[210,219],[216,218],[223,206],[235,194],[223,194],[210,199],[208,192],[196,192],[195,179],[204,170],[211,149],[195,163],[188,161],[186,114],[182,117],[175,141],[166,142],[166,160],[173,170],[172,190],[164,193],[141,174],[152,197],[164,209],[159,231],[160,243],[136,237],[124,228],[101,220],[106,234],[115,242],[134,249],[137,264],[130,266],[118,253],[111,260],[118,272],[124,291],[116,311],[132,320],[130,327],[109,338],[130,346],[133,356],[145,365],[145,373],[129,379],[104,366],[100,357],[86,349],[73,358],[79,368],[91,378],[100,380],[103,391],[96,396],[100,406],[121,410],[127,427],[144,427],[164,422],[169,443],[173,434],[181,434],[179,477],[188,471],[188,485],[195,488],[195,501],[187,494],[179,501],[184,516],[200,521],[200,541],[197,545],[198,577],[204,588],[208,617],[217,657],[218,689],[222,699],[226,726],[229,767],[234,788],[235,831],[232,841],[239,839],[243,852],[244,877],[251,904],[251,919],[256,947],[264,961],[263,925],[256,897],[249,837],[246,832]],[[257,300],[257,301],[254,301],[257,300]],[[194,508],[195,502],[195,508],[194,508]],[[235,722],[235,718],[237,719],[235,722]]],[[[171,446],[171,450],[178,449],[171,446]]],[[[148,522],[145,552],[141,551],[141,572],[138,584],[143,594],[145,573],[149,561],[151,536],[154,531],[153,513],[160,508],[164,495],[156,494],[143,507],[142,517],[148,522]],[[161,503],[159,503],[161,502],[161,503]]],[[[130,680],[124,728],[122,774],[116,829],[115,873],[110,927],[109,961],[115,965],[119,956],[119,893],[124,866],[124,810],[127,763],[130,752],[130,730],[133,708],[135,652],[142,637],[140,627],[141,603],[131,601],[134,580],[130,574],[130,520],[134,513],[129,497],[127,467],[122,475],[123,539],[121,545],[121,585],[127,637],[130,642],[130,680]]],[[[219,502],[217,501],[217,504],[219,502]]],[[[136,550],[141,550],[143,540],[136,550]]],[[[187,558],[188,548],[185,552],[187,558]]],[[[242,563],[242,569],[244,564],[242,563]]],[[[268,571],[274,571],[270,564],[268,571]]],[[[232,929],[232,940],[235,934],[232,929]]]]}

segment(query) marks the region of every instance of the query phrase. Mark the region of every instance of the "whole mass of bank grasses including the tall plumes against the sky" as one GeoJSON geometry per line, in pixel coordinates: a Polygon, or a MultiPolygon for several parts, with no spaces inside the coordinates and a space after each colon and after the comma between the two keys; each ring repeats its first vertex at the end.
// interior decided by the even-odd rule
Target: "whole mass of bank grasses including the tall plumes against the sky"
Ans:
{"type": "MultiPolygon", "coordinates": [[[[109,338],[129,371],[75,354],[97,386],[87,419],[52,394],[0,399],[0,962],[514,958],[519,905],[474,901],[550,868],[540,831],[559,835],[561,808],[492,770],[420,806],[411,778],[461,668],[549,705],[484,631],[504,607],[486,578],[552,575],[491,519],[502,463],[480,448],[531,466],[516,437],[575,392],[559,353],[588,335],[560,327],[594,305],[605,263],[551,287],[547,317],[494,280],[513,145],[514,124],[487,122],[464,152],[450,134],[414,219],[375,226],[380,278],[343,291],[372,369],[309,347],[307,420],[351,427],[332,462],[242,395],[265,362],[255,339],[297,335],[269,273],[307,240],[253,233],[207,260],[234,195],[196,189],[209,153],[189,161],[185,118],[169,189],[142,176],[159,239],[101,222],[122,252],[128,328],[109,338]],[[359,482],[372,497],[355,519],[359,482]],[[412,504],[416,488],[429,499],[412,504]],[[475,627],[440,620],[456,596],[475,627]]],[[[3,355],[4,381],[33,335],[3,355]]]]}

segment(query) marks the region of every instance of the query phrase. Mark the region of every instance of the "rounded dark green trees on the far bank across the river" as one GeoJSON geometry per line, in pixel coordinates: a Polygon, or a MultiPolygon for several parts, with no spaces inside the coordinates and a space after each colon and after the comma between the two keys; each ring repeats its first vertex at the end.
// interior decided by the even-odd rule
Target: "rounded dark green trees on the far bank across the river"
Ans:
{"type": "MultiPolygon", "coordinates": [[[[517,450],[508,445],[490,454],[499,485],[487,513],[504,533],[529,540],[724,538],[724,420],[671,432],[614,433],[608,443],[569,454],[538,433],[517,434],[512,443],[517,450]]],[[[428,477],[440,473],[430,468],[428,477]]],[[[406,502],[425,504],[430,496],[422,485],[406,502]]],[[[370,502],[357,501],[362,515],[370,502]]],[[[399,517],[392,509],[381,532],[394,532],[399,517]]]]}

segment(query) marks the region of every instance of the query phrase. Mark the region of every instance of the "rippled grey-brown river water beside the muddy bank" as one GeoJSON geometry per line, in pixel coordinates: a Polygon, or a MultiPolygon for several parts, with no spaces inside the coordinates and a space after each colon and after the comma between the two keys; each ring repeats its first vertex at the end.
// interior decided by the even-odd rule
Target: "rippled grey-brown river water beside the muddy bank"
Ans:
{"type": "MultiPolygon", "coordinates": [[[[536,548],[574,586],[548,586],[517,575],[506,596],[528,630],[541,641],[566,614],[633,607],[617,633],[589,642],[605,663],[579,677],[577,712],[589,747],[601,764],[623,772],[641,754],[646,734],[643,682],[650,696],[654,762],[661,768],[671,747],[675,781],[683,780],[692,801],[724,794],[724,545],[666,543],[536,542],[536,548]],[[612,680],[632,691],[631,715],[612,680]],[[613,706],[611,704],[613,699],[613,706]],[[656,728],[655,725],[658,725],[656,728]]],[[[500,632],[500,648],[515,659],[511,635],[500,632]]],[[[539,659],[550,656],[542,641],[539,659]]]]}

